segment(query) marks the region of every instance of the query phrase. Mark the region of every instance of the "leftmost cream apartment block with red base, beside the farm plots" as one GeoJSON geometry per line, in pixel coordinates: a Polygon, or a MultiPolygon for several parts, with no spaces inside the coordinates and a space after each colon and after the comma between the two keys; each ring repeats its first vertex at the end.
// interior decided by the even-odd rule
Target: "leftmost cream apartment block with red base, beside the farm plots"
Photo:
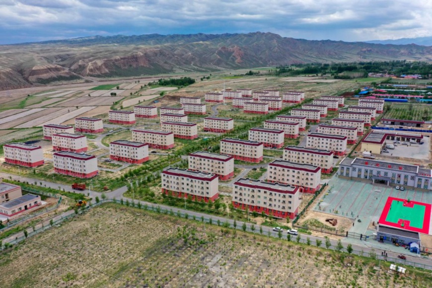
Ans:
{"type": "Polygon", "coordinates": [[[44,151],[41,146],[23,143],[3,145],[4,162],[24,167],[37,167],[44,164],[44,151]]]}

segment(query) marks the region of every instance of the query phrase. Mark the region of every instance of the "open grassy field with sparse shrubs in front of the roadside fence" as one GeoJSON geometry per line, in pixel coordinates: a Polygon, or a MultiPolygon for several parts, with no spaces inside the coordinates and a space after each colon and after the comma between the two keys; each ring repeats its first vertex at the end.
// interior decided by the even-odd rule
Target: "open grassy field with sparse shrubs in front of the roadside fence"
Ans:
{"type": "Polygon", "coordinates": [[[1,287],[429,287],[429,272],[116,205],[0,256],[1,287]],[[268,242],[269,241],[269,242],[268,242]]]}

